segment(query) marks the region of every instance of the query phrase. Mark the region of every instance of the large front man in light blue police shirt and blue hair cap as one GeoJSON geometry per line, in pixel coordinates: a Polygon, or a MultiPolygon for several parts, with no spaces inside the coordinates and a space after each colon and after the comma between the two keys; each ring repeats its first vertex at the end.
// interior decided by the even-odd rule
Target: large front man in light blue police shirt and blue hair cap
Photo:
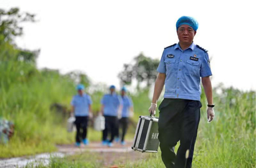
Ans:
{"type": "Polygon", "coordinates": [[[202,107],[200,81],[208,102],[208,123],[214,118],[210,59],[207,50],[193,42],[197,28],[198,22],[192,17],[183,16],[176,22],[179,42],[163,50],[148,109],[149,113],[155,113],[157,100],[165,85],[164,99],[158,107],[158,138],[161,158],[167,168],[192,166],[202,107]],[[179,140],[180,146],[175,154],[174,147],[179,140]]]}

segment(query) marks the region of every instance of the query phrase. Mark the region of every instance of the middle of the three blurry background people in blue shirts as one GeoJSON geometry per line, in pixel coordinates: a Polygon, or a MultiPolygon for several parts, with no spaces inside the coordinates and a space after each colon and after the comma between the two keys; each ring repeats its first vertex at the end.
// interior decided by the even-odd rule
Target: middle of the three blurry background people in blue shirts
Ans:
{"type": "Polygon", "coordinates": [[[121,113],[122,98],[116,94],[115,86],[109,87],[110,93],[105,94],[101,100],[101,111],[105,117],[105,129],[103,130],[102,145],[113,146],[113,140],[118,131],[118,118],[121,113]],[[108,140],[108,132],[111,133],[111,138],[108,140]]]}

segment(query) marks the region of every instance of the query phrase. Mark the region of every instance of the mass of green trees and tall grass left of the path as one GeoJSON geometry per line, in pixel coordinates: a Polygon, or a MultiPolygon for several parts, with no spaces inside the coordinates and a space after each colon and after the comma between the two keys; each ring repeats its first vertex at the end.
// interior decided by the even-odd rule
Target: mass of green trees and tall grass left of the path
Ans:
{"type": "Polygon", "coordinates": [[[62,75],[58,70],[38,70],[39,50],[20,49],[15,37],[22,35],[21,22],[33,22],[34,15],[19,9],[0,9],[0,116],[15,124],[7,145],[0,144],[0,157],[13,157],[56,150],[55,144],[74,142],[66,131],[66,116],[51,111],[53,104],[69,108],[75,86],[89,79],[81,72],[62,75]],[[74,80],[71,74],[76,74],[74,80]]]}

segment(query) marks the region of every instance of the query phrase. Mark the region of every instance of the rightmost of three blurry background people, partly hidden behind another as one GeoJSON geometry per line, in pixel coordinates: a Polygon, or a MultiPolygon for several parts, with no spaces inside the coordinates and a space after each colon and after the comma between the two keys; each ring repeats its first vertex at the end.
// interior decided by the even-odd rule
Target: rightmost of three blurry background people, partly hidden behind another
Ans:
{"type": "Polygon", "coordinates": [[[133,116],[133,102],[132,102],[132,99],[126,95],[126,92],[127,92],[126,87],[122,87],[121,97],[122,97],[123,107],[122,107],[122,118],[119,120],[119,127],[121,127],[122,129],[122,137],[121,137],[122,145],[126,144],[124,141],[124,137],[128,129],[129,117],[133,116]]]}

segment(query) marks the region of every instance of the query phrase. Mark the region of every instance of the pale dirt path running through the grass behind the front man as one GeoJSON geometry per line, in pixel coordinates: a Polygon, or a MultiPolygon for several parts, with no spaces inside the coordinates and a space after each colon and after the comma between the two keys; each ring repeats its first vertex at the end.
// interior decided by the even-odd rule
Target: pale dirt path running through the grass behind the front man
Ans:
{"type": "MultiPolygon", "coordinates": [[[[42,153],[30,157],[17,157],[11,159],[0,159],[0,168],[16,168],[24,167],[32,162],[41,162],[45,165],[49,164],[51,157],[63,158],[68,155],[89,153],[90,155],[96,155],[106,167],[115,167],[115,164],[127,164],[129,162],[138,161],[144,159],[148,153],[141,153],[131,149],[132,142],[128,142],[125,146],[114,143],[114,146],[109,148],[108,146],[102,146],[100,142],[92,142],[87,146],[81,146],[80,148],[71,145],[58,145],[58,152],[54,153],[42,153]]],[[[86,159],[86,158],[85,158],[86,159]]],[[[88,158],[89,159],[89,158],[88,158]]]]}

